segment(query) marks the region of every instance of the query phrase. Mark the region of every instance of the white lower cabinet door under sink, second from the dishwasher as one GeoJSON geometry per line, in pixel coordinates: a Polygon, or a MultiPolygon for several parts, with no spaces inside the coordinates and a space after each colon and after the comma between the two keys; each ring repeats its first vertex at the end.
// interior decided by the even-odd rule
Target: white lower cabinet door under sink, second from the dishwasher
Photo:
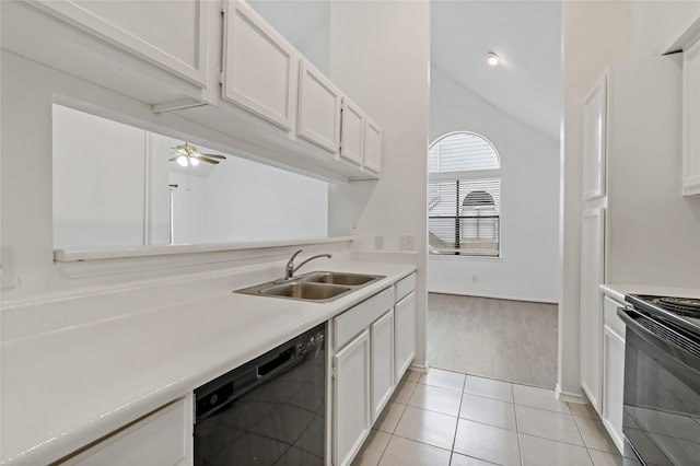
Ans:
{"type": "Polygon", "coordinates": [[[372,422],[380,417],[394,392],[394,310],[370,330],[372,342],[372,422]]]}

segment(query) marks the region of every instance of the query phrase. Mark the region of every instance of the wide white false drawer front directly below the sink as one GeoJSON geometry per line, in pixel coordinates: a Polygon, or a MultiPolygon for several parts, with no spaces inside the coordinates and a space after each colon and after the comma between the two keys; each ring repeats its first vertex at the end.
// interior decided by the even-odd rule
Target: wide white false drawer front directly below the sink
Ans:
{"type": "Polygon", "coordinates": [[[334,318],[335,349],[342,348],[352,337],[368,328],[392,307],[394,307],[393,287],[387,288],[334,318]]]}

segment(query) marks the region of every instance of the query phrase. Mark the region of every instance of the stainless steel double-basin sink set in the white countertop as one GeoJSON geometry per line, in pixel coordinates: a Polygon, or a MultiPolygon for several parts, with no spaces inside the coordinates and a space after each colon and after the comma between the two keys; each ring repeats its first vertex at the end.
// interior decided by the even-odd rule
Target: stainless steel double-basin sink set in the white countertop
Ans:
{"type": "Polygon", "coordinates": [[[337,300],[383,278],[386,277],[381,275],[314,271],[289,280],[280,279],[236,290],[235,293],[318,303],[337,300]]]}

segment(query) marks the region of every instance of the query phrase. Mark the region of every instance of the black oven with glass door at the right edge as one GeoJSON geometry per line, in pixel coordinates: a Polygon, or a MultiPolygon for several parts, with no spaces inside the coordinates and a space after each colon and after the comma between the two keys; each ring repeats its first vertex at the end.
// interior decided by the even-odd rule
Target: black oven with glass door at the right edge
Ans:
{"type": "Polygon", "coordinates": [[[626,441],[648,466],[700,465],[700,319],[656,296],[626,301],[626,441]]]}

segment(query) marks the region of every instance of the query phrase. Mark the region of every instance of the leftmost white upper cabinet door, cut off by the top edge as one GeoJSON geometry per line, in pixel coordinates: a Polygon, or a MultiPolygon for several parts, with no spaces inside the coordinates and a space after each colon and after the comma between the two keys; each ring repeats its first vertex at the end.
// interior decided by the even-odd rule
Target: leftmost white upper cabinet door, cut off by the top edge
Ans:
{"type": "Polygon", "coordinates": [[[180,78],[207,86],[208,24],[203,0],[31,3],[180,78]]]}

